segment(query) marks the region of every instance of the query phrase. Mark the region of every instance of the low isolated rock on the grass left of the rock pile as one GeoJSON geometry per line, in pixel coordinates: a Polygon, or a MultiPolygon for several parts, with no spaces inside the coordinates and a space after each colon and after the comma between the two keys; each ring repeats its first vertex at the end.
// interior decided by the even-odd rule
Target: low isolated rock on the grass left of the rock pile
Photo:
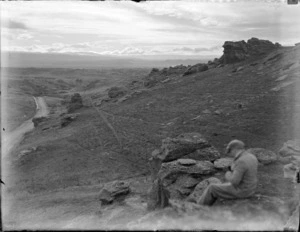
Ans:
{"type": "Polygon", "coordinates": [[[103,205],[112,203],[117,197],[130,192],[129,184],[124,181],[114,181],[106,184],[100,191],[99,199],[103,205]]]}

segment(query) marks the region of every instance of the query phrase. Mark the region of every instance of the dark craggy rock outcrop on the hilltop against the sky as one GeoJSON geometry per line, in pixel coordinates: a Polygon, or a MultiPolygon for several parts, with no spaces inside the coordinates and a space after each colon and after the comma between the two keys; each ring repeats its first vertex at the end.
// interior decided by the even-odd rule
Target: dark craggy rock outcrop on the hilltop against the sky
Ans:
{"type": "Polygon", "coordinates": [[[237,42],[226,41],[223,45],[224,52],[220,62],[223,64],[239,62],[250,56],[266,54],[280,46],[278,43],[273,44],[269,40],[257,38],[251,38],[247,43],[244,40],[237,42]]]}

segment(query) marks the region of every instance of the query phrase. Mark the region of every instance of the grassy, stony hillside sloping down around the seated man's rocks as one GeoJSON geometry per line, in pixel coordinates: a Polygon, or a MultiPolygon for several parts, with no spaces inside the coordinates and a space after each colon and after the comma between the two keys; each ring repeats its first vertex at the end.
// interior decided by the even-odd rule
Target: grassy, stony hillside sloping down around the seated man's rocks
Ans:
{"type": "MultiPolygon", "coordinates": [[[[13,180],[5,190],[9,209],[4,217],[6,226],[163,228],[166,221],[171,221],[169,226],[174,228],[186,223],[191,228],[200,225],[219,228],[221,222],[212,224],[212,221],[225,217],[228,224],[222,223],[226,228],[235,225],[245,229],[245,223],[236,224],[240,219],[238,214],[227,209],[218,214],[213,211],[210,215],[218,217],[212,217],[214,220],[206,224],[196,223],[199,218],[195,215],[179,213],[176,219],[178,212],[172,209],[147,212],[146,192],[150,187],[147,160],[160,147],[162,139],[184,132],[203,134],[222,154],[225,145],[234,138],[243,140],[248,147],[274,152],[287,140],[299,139],[300,128],[296,123],[300,112],[299,55],[299,47],[282,48],[258,59],[184,77],[174,75],[171,81],[143,88],[122,102],[98,104],[95,94],[98,90],[101,93],[102,86],[87,91],[87,85],[76,83],[67,85],[69,89],[61,89],[65,91],[62,95],[46,97],[52,108],[49,125],[60,117],[64,93],[79,91],[86,106],[76,111],[78,118],[67,127],[50,126],[45,130],[38,127],[28,133],[13,152],[13,180]],[[243,68],[232,72],[238,67],[243,68]],[[89,97],[98,106],[91,107],[89,97]],[[19,159],[20,151],[30,147],[37,149],[19,159]],[[104,183],[119,179],[132,182],[132,193],[125,201],[101,207],[97,199],[99,190],[104,183]],[[173,218],[168,216],[173,214],[173,218]],[[35,218],[35,224],[30,218],[35,218]]],[[[131,76],[130,81],[134,78],[138,79],[131,76]]],[[[99,94],[99,98],[105,93],[99,94]]],[[[282,163],[260,166],[258,193],[282,201],[294,197],[295,190],[283,178],[282,167],[282,163]]],[[[247,225],[282,229],[286,220],[270,213],[263,219],[249,219],[247,225]]]]}

